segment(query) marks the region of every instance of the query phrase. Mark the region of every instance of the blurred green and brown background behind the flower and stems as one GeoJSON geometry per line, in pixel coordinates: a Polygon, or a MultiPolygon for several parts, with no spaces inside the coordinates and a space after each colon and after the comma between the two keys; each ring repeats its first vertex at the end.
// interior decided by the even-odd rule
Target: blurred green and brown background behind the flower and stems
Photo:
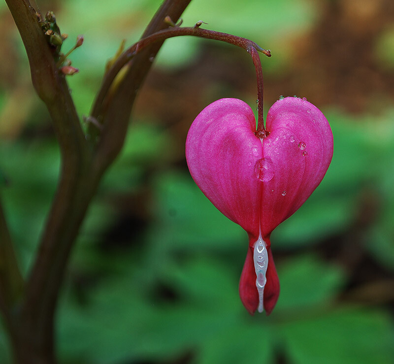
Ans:
{"type": "MultiPolygon", "coordinates": [[[[39,0],[54,10],[69,77],[88,115],[106,61],[160,0],[39,0]]],[[[184,143],[208,103],[255,105],[248,54],[215,41],[165,42],[140,89],[121,156],[72,254],[57,314],[63,364],[394,363],[394,3],[193,0],[186,26],[248,37],[262,57],[265,110],[306,97],[328,118],[334,157],[307,202],[271,236],[281,282],[273,313],[238,297],[247,235],[202,195],[184,143]]],[[[0,192],[26,273],[53,197],[59,148],[27,57],[0,2],[0,192]]],[[[0,329],[0,363],[9,363],[0,329]]]]}

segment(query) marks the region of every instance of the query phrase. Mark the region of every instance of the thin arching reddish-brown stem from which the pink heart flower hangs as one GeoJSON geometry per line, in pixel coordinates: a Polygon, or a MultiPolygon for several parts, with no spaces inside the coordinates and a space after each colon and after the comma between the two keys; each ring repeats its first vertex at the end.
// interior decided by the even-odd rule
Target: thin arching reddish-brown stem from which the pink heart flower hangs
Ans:
{"type": "MultiPolygon", "coordinates": [[[[167,17],[168,18],[168,17],[167,17]]],[[[196,23],[194,27],[173,27],[173,28],[167,28],[162,31],[153,33],[152,35],[149,35],[141,40],[139,40],[137,43],[133,44],[130,48],[128,48],[126,51],[122,53],[122,55],[117,59],[115,64],[108,70],[107,74],[105,75],[103,82],[100,87],[100,91],[98,93],[98,96],[95,100],[91,116],[93,118],[98,118],[99,115],[101,115],[102,112],[105,112],[103,108],[105,108],[105,98],[108,97],[109,90],[111,86],[113,85],[113,81],[115,80],[115,77],[118,75],[119,71],[139,52],[141,52],[144,48],[147,46],[158,42],[158,41],[164,41],[165,39],[172,38],[175,36],[182,36],[182,35],[191,35],[191,36],[197,36],[200,38],[207,38],[207,39],[214,39],[214,40],[220,40],[226,43],[230,43],[233,45],[236,45],[238,47],[241,47],[245,50],[248,51],[248,53],[251,55],[253,63],[256,67],[256,75],[258,79],[258,100],[259,100],[259,121],[258,121],[258,131],[263,131],[264,130],[264,120],[263,120],[263,72],[262,72],[262,67],[261,67],[261,62],[260,62],[260,57],[258,52],[261,52],[265,54],[267,57],[271,56],[271,53],[269,50],[263,49],[260,47],[258,44],[255,42],[242,38],[240,36],[228,34],[228,33],[221,33],[221,32],[215,32],[207,29],[201,29],[199,28],[201,26],[202,22],[199,21],[196,23]]]]}

